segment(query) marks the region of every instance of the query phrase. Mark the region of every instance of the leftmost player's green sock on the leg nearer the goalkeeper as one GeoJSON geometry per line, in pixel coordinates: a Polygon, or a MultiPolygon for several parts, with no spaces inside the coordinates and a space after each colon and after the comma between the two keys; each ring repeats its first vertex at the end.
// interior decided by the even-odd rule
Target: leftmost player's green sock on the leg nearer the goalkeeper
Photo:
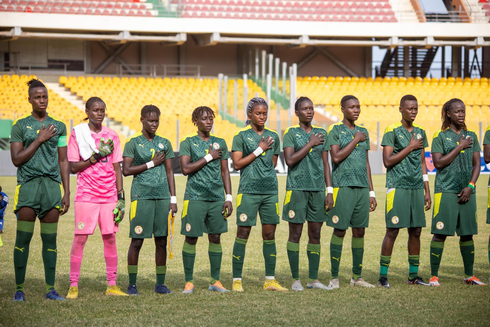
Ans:
{"type": "Polygon", "coordinates": [[[46,281],[46,292],[54,290],[54,277],[56,275],[56,235],[58,231],[58,223],[43,223],[41,222],[41,240],[43,241],[43,263],[44,276],[46,281]]]}

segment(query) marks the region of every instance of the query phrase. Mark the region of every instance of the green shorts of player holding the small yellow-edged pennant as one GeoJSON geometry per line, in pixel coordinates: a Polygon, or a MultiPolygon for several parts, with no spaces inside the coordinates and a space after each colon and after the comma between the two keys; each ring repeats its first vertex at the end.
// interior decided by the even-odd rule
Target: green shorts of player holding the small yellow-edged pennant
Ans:
{"type": "Polygon", "coordinates": [[[129,210],[129,237],[151,239],[169,235],[170,199],[131,201],[129,210]]]}

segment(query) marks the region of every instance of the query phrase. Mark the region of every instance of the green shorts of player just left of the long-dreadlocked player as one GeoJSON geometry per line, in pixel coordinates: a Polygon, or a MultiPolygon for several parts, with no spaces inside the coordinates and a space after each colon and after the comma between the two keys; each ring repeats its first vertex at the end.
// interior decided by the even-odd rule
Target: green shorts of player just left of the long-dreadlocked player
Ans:
{"type": "Polygon", "coordinates": [[[424,189],[388,189],[386,228],[425,227],[424,189]]]}

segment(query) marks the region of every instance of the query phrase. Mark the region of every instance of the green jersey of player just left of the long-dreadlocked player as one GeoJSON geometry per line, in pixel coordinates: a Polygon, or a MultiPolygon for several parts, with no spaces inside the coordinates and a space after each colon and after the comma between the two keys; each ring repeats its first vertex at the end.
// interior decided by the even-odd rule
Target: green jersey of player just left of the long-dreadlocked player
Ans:
{"type": "MultiPolygon", "coordinates": [[[[424,148],[429,146],[425,131],[421,126],[413,125],[412,132],[407,131],[401,122],[394,123],[385,129],[382,146],[392,146],[393,154],[405,149],[414,136],[416,139],[423,138],[424,148]]],[[[423,189],[422,179],[422,150],[411,151],[408,156],[403,158],[398,164],[386,168],[386,187],[401,189],[423,189]]]]}

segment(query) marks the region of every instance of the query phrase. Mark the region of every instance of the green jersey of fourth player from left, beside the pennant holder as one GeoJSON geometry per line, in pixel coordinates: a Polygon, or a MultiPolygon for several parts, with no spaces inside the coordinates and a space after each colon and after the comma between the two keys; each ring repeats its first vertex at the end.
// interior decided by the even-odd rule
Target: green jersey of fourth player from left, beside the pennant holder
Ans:
{"type": "MultiPolygon", "coordinates": [[[[209,139],[204,141],[197,132],[185,136],[180,141],[179,156],[189,156],[193,163],[207,155],[211,145],[214,149],[221,149],[221,160],[230,158],[224,139],[211,134],[209,139]]],[[[221,160],[213,160],[187,176],[184,200],[224,200],[221,160]]]]}

